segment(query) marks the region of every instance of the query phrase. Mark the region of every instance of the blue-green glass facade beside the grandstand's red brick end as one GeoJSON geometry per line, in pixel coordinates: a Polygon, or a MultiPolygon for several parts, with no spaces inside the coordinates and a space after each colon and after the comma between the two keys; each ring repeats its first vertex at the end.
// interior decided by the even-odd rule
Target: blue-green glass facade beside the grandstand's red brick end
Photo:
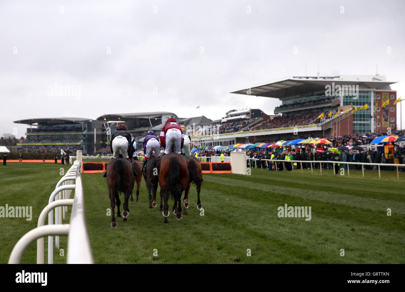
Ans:
{"type": "Polygon", "coordinates": [[[357,106],[353,114],[353,133],[365,134],[371,132],[371,91],[359,91],[358,99],[353,96],[343,96],[343,106],[357,106]],[[367,110],[359,110],[364,104],[368,104],[367,110]]]}

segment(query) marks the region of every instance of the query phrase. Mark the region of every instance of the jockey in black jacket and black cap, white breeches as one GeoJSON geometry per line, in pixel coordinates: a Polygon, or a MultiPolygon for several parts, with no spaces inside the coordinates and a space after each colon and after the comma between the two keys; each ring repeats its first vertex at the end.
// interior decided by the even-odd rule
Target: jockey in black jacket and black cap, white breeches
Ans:
{"type": "MultiPolygon", "coordinates": [[[[120,124],[117,127],[117,131],[113,133],[111,136],[111,152],[113,153],[113,158],[111,160],[118,158],[119,154],[122,154],[122,157],[128,159],[131,163],[131,159],[128,157],[128,146],[131,144],[131,134],[126,130],[124,124],[120,124]]],[[[132,166],[132,171],[134,172],[134,176],[137,176],[134,166],[132,166]]],[[[107,170],[105,171],[104,178],[107,177],[107,170]]]]}

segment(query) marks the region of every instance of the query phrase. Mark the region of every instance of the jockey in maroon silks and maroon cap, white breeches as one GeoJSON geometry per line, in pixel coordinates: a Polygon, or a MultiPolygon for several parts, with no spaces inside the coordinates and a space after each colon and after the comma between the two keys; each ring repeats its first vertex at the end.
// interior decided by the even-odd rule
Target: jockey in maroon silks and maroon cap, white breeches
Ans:
{"type": "Polygon", "coordinates": [[[183,148],[183,131],[176,119],[171,117],[166,121],[162,131],[160,132],[160,144],[165,148],[164,154],[171,152],[172,146],[174,145],[174,152],[181,153],[181,148],[183,148]]]}

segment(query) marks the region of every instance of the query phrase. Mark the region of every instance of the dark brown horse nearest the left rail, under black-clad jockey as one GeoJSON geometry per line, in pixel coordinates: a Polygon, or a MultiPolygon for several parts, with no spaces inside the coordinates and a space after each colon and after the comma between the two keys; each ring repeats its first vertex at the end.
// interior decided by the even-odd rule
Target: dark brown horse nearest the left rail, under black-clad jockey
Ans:
{"type": "MultiPolygon", "coordinates": [[[[133,140],[128,146],[129,157],[132,157],[132,153],[134,151],[132,148],[132,144],[134,143],[134,141],[135,140],[133,140]]],[[[122,212],[122,217],[124,218],[124,221],[127,220],[129,215],[128,199],[130,196],[132,196],[134,182],[135,177],[132,171],[132,163],[130,163],[127,159],[115,158],[108,163],[107,185],[112,210],[111,224],[110,224],[111,228],[117,228],[117,223],[115,222],[114,216],[115,201],[117,201],[117,208],[118,208],[117,217],[121,218],[121,214],[119,211],[119,206],[121,205],[121,201],[119,200],[119,193],[124,193],[124,203],[122,204],[124,212],[122,212]]]]}

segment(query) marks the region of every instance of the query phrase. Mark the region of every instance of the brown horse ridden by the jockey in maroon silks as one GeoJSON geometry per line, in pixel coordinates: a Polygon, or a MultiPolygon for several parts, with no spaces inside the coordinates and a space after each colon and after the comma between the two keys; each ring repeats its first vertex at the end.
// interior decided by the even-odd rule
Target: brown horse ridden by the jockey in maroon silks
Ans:
{"type": "MultiPolygon", "coordinates": [[[[188,183],[189,175],[185,158],[176,152],[165,154],[159,161],[160,198],[163,197],[164,200],[164,223],[167,223],[167,217],[170,214],[167,203],[169,193],[175,199],[173,214],[177,220],[183,218],[181,214],[181,193],[187,188],[188,183]],[[176,204],[178,204],[177,210],[176,204]]],[[[162,207],[162,203],[160,203],[160,210],[162,210],[162,207]]]]}

